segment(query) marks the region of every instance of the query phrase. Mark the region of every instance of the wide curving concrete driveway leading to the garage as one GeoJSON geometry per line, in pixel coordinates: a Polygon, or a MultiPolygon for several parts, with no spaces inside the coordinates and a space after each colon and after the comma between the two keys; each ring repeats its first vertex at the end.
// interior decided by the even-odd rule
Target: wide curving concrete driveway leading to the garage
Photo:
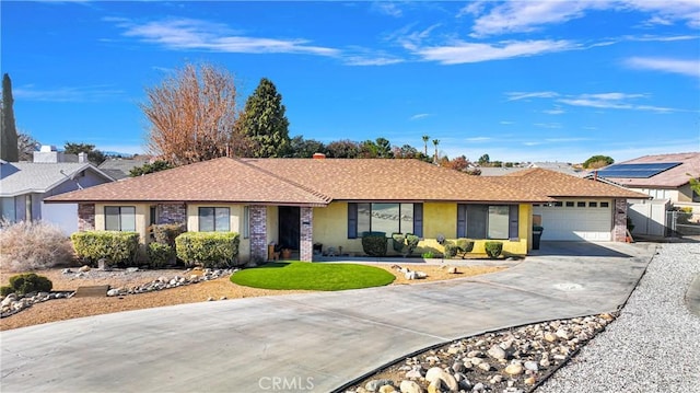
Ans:
{"type": "Polygon", "coordinates": [[[497,274],[91,316],[0,334],[2,392],[328,392],[422,348],[616,311],[653,244],[542,243],[497,274]]]}

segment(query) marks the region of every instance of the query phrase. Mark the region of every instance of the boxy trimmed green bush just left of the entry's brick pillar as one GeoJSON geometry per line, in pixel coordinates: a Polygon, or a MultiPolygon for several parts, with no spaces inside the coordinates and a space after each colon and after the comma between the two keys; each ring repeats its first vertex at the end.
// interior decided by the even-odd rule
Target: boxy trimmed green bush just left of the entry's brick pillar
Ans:
{"type": "Polygon", "coordinates": [[[235,232],[185,232],[175,239],[175,248],[185,265],[229,267],[238,257],[240,241],[235,232]]]}

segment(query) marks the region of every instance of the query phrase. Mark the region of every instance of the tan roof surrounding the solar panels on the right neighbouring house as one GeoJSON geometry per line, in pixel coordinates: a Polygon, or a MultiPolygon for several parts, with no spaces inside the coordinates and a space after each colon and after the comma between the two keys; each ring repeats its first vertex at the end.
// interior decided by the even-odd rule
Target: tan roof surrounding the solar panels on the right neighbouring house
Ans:
{"type": "Polygon", "coordinates": [[[620,164],[641,164],[641,163],[660,163],[660,162],[680,162],[681,164],[664,171],[649,178],[629,178],[629,177],[606,177],[610,181],[628,186],[628,187],[660,187],[676,188],[690,182],[689,173],[698,177],[700,176],[700,152],[675,153],[644,155],[620,164]]]}

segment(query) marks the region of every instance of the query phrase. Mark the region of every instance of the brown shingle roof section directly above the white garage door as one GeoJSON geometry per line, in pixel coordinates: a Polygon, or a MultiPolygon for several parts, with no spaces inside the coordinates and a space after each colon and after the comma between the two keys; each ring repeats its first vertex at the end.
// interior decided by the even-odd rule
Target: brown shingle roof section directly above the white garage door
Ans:
{"type": "Polygon", "coordinates": [[[498,177],[506,185],[530,193],[557,197],[588,198],[649,198],[649,195],[595,180],[571,176],[561,172],[538,167],[498,177]]]}

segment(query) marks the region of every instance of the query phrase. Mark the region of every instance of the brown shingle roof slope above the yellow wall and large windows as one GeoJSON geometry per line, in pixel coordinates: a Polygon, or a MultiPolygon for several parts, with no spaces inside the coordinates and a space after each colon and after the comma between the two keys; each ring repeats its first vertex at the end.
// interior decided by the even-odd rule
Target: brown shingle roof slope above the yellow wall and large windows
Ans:
{"type": "Polygon", "coordinates": [[[245,162],[336,200],[548,201],[419,160],[246,159],[245,162]]]}

